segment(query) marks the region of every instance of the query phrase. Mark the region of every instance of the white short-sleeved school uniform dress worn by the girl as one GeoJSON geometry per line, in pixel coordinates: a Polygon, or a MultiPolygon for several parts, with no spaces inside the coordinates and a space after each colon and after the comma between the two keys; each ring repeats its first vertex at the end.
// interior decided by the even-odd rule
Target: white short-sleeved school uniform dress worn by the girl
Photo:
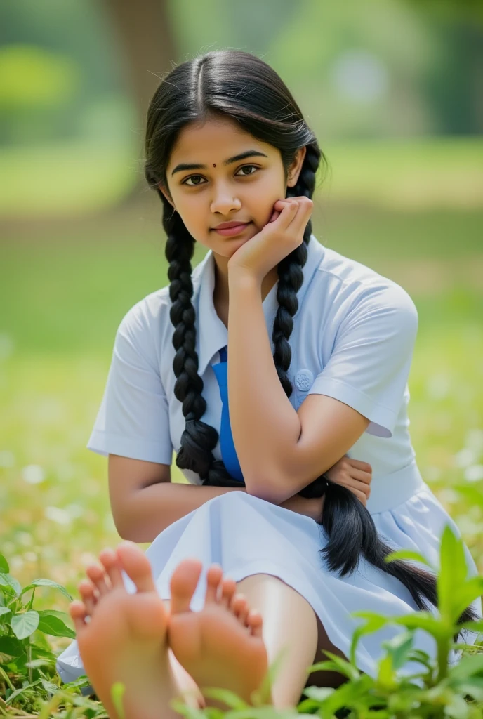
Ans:
{"type": "MultiPolygon", "coordinates": [[[[220,361],[219,350],[228,344],[228,331],[213,306],[211,251],[192,277],[198,374],[206,399],[203,421],[219,434],[221,398],[211,365],[220,361]]],[[[277,285],[263,302],[271,344],[277,285]]],[[[185,418],[174,393],[170,304],[165,287],[139,301],[122,319],[101,408],[88,441],[93,452],[171,464],[173,449],[180,449],[185,418]]],[[[449,523],[457,536],[460,532],[423,481],[410,441],[408,375],[417,328],[415,305],[403,288],[311,236],[289,339],[290,403],[298,410],[307,395],[328,395],[370,420],[348,452],[349,457],[372,465],[367,510],[394,549],[419,551],[437,566],[444,526],[449,523]]],[[[219,441],[213,454],[221,459],[219,441]]],[[[183,470],[183,474],[189,482],[201,484],[195,472],[183,470]]],[[[146,554],[163,599],[170,598],[170,577],[181,560],[201,559],[203,572],[191,603],[193,611],[203,606],[206,569],[213,562],[221,564],[236,582],[259,572],[279,577],[305,597],[328,638],[349,656],[352,634],[363,622],[351,612],[404,615],[417,607],[399,580],[364,559],[351,576],[330,572],[320,553],[325,543],[324,531],[313,519],[244,492],[229,492],[165,528],[146,554]]],[[[469,573],[477,574],[466,545],[465,556],[469,573]]],[[[126,589],[134,592],[125,573],[123,578],[126,589]]],[[[481,600],[475,600],[473,606],[481,617],[481,600]]],[[[432,606],[430,609],[437,612],[432,606]]],[[[377,660],[385,654],[382,641],[403,631],[402,626],[392,624],[362,636],[356,657],[359,669],[374,677],[377,660]]],[[[464,631],[464,635],[469,644],[477,638],[474,632],[464,631]]],[[[430,656],[436,654],[433,638],[420,630],[415,633],[414,647],[430,656]]],[[[458,661],[460,654],[451,651],[450,661],[458,661]]],[[[325,655],[316,661],[323,659],[325,655]]],[[[411,663],[402,671],[418,670],[420,664],[411,663]]],[[[64,682],[85,673],[75,640],[58,657],[57,671],[64,682]]]]}

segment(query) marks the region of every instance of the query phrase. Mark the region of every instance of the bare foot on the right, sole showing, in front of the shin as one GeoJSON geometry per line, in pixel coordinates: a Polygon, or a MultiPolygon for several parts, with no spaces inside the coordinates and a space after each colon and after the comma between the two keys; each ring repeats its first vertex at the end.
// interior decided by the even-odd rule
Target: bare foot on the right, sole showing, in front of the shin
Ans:
{"type": "MultiPolygon", "coordinates": [[[[218,564],[208,569],[204,608],[191,612],[201,569],[197,559],[185,559],[172,574],[170,647],[202,692],[206,687],[228,689],[251,703],[268,669],[262,615],[249,610],[244,595],[236,594],[234,580],[224,579],[218,564]]],[[[223,706],[209,699],[207,705],[223,706]]]]}

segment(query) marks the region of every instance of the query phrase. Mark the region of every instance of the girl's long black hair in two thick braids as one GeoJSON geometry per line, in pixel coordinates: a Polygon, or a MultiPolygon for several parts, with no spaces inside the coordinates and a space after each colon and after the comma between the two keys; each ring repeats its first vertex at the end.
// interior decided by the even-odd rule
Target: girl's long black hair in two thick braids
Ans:
{"type": "MultiPolygon", "coordinates": [[[[312,198],[318,167],[322,162],[326,168],[327,162],[285,83],[270,65],[249,52],[216,50],[180,63],[160,83],[149,104],[145,175],[148,185],[159,194],[163,207],[172,303],[170,319],[174,326],[175,396],[182,403],[185,417],[176,465],[198,473],[203,485],[243,487],[244,482],[234,480],[224,462],[213,456],[218,432],[202,420],[206,400],[201,394],[203,380],[198,375],[191,278],[195,239],[160,190],[160,187],[164,188],[170,196],[166,169],[172,147],[183,127],[220,118],[236,122],[252,137],[277,147],[285,180],[295,153],[306,147],[298,182],[288,188],[287,197],[312,198]]],[[[292,359],[288,340],[293,330],[293,316],[298,310],[297,293],[303,283],[303,266],[307,261],[311,234],[312,222],[308,221],[303,242],[277,265],[278,309],[272,331],[273,359],[288,397],[292,393],[287,375],[292,359]]],[[[306,498],[325,494],[320,523],[328,539],[321,554],[331,571],[339,572],[341,576],[351,574],[357,569],[359,558],[364,557],[382,572],[397,577],[408,588],[420,610],[428,609],[426,600],[437,605],[436,577],[431,572],[400,560],[385,563],[384,557],[393,549],[378,535],[372,516],[354,493],[321,475],[299,494],[306,498]]],[[[459,623],[477,618],[470,605],[459,617],[459,623]]],[[[455,641],[459,633],[455,635],[455,641]]]]}

